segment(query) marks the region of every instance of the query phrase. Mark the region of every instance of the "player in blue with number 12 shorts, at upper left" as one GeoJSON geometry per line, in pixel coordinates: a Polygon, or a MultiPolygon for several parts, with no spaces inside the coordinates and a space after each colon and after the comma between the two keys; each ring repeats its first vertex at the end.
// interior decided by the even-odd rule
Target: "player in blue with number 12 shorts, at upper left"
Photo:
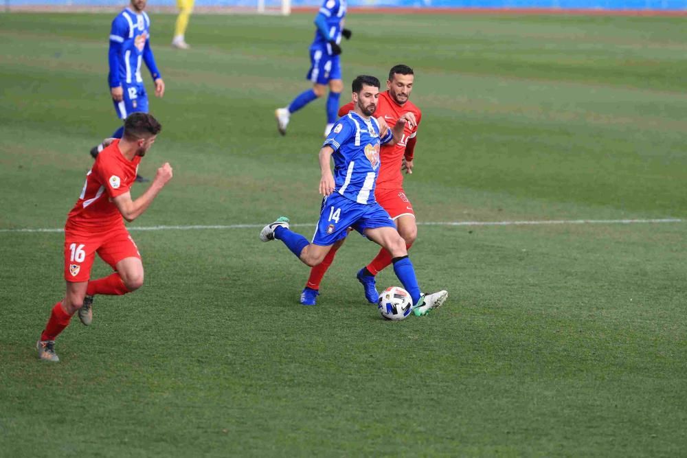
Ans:
{"type": "MultiPolygon", "coordinates": [[[[107,78],[110,94],[115,105],[117,117],[126,119],[135,111],[148,113],[148,94],[141,76],[141,63],[146,62],[150,76],[155,82],[155,95],[162,97],[165,83],[155,65],[155,56],[150,49],[150,17],[144,12],[148,0],[131,0],[131,5],[117,14],[110,31],[108,61],[110,73],[107,78]]],[[[122,138],[124,124],[115,130],[112,137],[122,138]]],[[[95,158],[105,142],[91,148],[95,158]]],[[[148,181],[137,175],[136,181],[148,181]]]]}

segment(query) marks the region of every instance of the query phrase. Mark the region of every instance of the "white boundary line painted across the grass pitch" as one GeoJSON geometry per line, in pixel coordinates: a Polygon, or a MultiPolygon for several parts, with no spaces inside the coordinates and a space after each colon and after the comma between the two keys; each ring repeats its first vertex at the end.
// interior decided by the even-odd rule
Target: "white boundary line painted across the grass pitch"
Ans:
{"type": "MultiPolygon", "coordinates": [[[[682,218],[656,218],[635,220],[540,220],[540,221],[446,221],[446,222],[418,222],[418,226],[537,226],[537,225],[631,225],[643,223],[684,222],[682,218]]],[[[315,226],[310,224],[295,224],[292,226],[315,226]]],[[[129,231],[195,231],[202,229],[256,229],[264,225],[190,225],[190,226],[142,226],[128,227],[129,231]]],[[[64,232],[65,229],[0,229],[0,233],[36,233],[36,232],[64,232]]]]}

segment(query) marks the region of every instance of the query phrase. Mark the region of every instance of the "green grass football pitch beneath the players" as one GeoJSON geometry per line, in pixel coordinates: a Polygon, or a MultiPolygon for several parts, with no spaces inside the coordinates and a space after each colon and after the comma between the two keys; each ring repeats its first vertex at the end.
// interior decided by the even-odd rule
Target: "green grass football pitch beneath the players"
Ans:
{"type": "Polygon", "coordinates": [[[350,15],[347,86],[416,69],[418,222],[678,219],[420,225],[420,285],[449,301],[388,323],[354,278],[370,242],[306,308],[306,266],[258,240],[317,220],[324,102],[286,137],[273,119],[308,87],[312,15],[193,16],[187,53],[153,15],[167,93],[141,172],[174,179],[130,225],[146,285],[97,297],[41,363],[63,234],[16,230],[63,227],[117,128],[112,16],[0,14],[0,456],[686,453],[684,19],[350,15]],[[248,227],[137,230],[158,225],[248,227]]]}

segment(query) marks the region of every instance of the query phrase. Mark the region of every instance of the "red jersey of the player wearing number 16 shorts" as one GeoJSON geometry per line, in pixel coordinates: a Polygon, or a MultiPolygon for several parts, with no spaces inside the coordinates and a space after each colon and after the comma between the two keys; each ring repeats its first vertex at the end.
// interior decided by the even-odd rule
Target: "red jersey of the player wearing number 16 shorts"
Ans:
{"type": "Polygon", "coordinates": [[[123,224],[122,214],[112,199],[131,189],[142,158],[136,156],[129,161],[119,144],[119,140],[113,141],[95,158],[79,200],[69,211],[65,229],[100,232],[123,224]]]}

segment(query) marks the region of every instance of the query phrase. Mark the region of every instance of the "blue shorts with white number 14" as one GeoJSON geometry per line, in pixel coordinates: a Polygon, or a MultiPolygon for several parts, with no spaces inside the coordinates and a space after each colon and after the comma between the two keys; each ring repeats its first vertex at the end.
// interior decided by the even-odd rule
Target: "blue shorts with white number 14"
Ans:
{"type": "Polygon", "coordinates": [[[328,247],[346,238],[349,227],[359,233],[377,227],[396,228],[394,220],[378,203],[363,204],[351,201],[338,192],[330,194],[322,201],[317,229],[313,244],[328,247]]]}

